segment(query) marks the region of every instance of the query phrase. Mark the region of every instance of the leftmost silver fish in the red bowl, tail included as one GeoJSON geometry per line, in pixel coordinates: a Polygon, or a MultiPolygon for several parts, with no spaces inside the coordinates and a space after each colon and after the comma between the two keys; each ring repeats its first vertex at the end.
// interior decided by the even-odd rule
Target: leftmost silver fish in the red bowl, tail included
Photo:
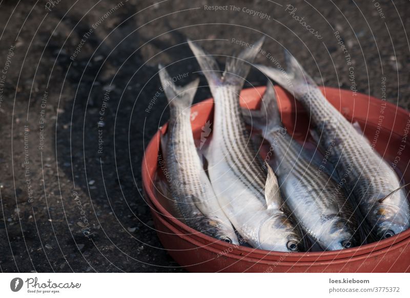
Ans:
{"type": "Polygon", "coordinates": [[[161,136],[174,211],[191,228],[228,243],[239,244],[232,224],[220,208],[194,143],[191,105],[199,80],[177,87],[159,66],[170,106],[167,137],[161,136]]]}

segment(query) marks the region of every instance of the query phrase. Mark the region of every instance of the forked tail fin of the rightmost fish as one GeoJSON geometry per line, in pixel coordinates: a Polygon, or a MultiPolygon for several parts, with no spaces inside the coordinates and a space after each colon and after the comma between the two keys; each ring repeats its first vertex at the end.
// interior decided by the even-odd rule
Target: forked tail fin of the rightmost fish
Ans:
{"type": "Polygon", "coordinates": [[[297,62],[296,58],[288,50],[284,51],[287,71],[275,69],[270,66],[256,65],[265,75],[288,90],[295,96],[301,96],[309,91],[309,88],[317,88],[313,78],[297,62]]]}

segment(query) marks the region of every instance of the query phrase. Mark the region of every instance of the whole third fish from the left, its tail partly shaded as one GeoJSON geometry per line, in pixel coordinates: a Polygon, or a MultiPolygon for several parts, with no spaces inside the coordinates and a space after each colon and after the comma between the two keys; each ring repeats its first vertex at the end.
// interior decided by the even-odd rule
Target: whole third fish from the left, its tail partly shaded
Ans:
{"type": "Polygon", "coordinates": [[[271,144],[274,159],[270,161],[282,197],[303,230],[324,250],[356,246],[353,208],[337,182],[316,165],[314,157],[310,158],[283,127],[272,83],[268,83],[260,110],[243,111],[247,123],[259,128],[271,144]]]}

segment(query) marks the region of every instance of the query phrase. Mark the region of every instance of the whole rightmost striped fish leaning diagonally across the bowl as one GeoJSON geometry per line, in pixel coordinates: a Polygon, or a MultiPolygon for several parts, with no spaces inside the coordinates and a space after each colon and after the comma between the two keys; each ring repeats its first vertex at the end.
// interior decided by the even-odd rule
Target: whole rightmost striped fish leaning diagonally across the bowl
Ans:
{"type": "MultiPolygon", "coordinates": [[[[391,237],[410,225],[409,202],[396,172],[372,148],[363,133],[333,107],[296,59],[285,52],[288,70],[257,66],[311,113],[316,139],[335,166],[338,180],[358,206],[375,240],[391,237]]],[[[366,225],[363,225],[366,226],[366,225]]]]}

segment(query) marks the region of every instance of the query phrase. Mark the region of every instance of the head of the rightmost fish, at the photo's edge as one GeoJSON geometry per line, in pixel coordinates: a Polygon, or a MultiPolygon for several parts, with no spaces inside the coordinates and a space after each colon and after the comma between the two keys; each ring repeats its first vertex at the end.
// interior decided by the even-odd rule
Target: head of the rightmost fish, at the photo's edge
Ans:
{"type": "MultiPolygon", "coordinates": [[[[407,201],[404,202],[407,203],[407,201]]],[[[409,228],[408,204],[396,204],[390,200],[385,200],[382,203],[377,203],[372,208],[371,214],[372,216],[368,216],[368,219],[371,226],[375,227],[378,240],[392,237],[409,228]]]]}

